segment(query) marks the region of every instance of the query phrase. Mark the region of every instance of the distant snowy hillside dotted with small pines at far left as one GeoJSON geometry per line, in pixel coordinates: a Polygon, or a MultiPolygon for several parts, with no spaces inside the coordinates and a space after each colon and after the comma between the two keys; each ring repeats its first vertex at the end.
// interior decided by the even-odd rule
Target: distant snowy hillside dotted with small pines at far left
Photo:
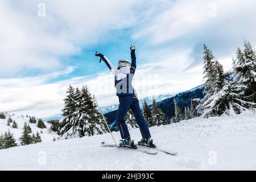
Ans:
{"type": "MultiPolygon", "coordinates": [[[[15,122],[18,124],[18,129],[13,129],[13,127],[11,127],[13,123],[10,123],[10,126],[7,126],[8,118],[9,115],[7,115],[6,119],[0,119],[0,135],[1,133],[4,134],[5,131],[10,130],[10,132],[14,134],[16,143],[20,144],[19,138],[22,135],[24,123],[26,122],[28,124],[29,118],[11,115],[11,118],[15,120],[15,122]]],[[[37,123],[29,123],[29,125],[31,127],[32,133],[36,134],[36,132],[38,131],[40,137],[42,138],[42,142],[51,142],[53,138],[57,139],[59,137],[59,135],[50,130],[51,124],[49,123],[44,123],[44,125],[46,125],[46,129],[39,129],[37,127],[37,123]],[[43,134],[40,133],[41,130],[43,131],[43,134]]]]}

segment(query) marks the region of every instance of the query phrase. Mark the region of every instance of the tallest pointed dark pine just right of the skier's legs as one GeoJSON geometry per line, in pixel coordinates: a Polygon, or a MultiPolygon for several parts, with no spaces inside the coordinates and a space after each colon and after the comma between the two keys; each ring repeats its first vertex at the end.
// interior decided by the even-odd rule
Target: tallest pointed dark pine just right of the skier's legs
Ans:
{"type": "Polygon", "coordinates": [[[167,125],[167,120],[161,109],[158,108],[155,98],[152,100],[150,126],[167,125]]]}

